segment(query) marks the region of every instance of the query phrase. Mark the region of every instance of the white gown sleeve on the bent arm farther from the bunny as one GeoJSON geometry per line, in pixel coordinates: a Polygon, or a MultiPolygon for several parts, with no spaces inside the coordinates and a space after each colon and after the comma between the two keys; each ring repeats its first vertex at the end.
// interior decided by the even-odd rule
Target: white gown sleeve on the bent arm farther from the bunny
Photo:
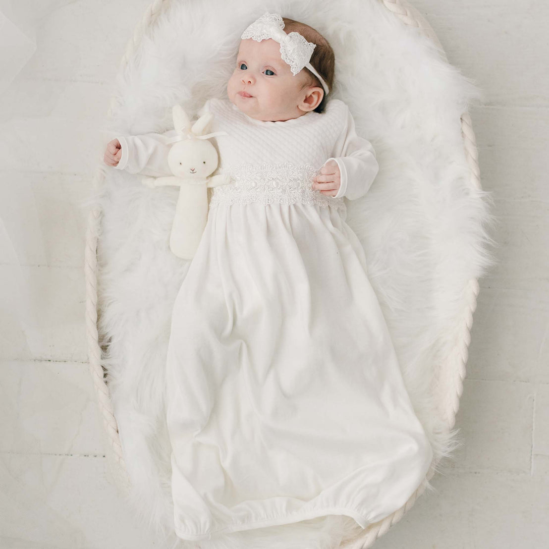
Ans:
{"type": "Polygon", "coordinates": [[[379,165],[372,144],[356,134],[349,107],[346,125],[334,145],[333,155],[328,160],[335,160],[341,172],[341,186],[335,198],[344,196],[355,200],[365,195],[376,178],[379,165]]]}

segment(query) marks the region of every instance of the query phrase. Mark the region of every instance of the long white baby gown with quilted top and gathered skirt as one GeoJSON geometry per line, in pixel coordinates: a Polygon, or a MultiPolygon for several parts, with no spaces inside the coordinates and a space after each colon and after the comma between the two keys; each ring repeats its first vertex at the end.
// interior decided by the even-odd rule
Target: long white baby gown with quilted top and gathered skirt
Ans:
{"type": "MultiPolygon", "coordinates": [[[[378,164],[348,106],[260,121],[210,99],[208,222],[173,305],[166,406],[185,540],[399,509],[433,452],[416,417],[343,197],[378,164]],[[335,197],[313,190],[329,158],[335,197]]],[[[170,175],[164,135],[121,136],[119,169],[170,175]]],[[[154,192],[160,192],[158,189],[154,192]]]]}

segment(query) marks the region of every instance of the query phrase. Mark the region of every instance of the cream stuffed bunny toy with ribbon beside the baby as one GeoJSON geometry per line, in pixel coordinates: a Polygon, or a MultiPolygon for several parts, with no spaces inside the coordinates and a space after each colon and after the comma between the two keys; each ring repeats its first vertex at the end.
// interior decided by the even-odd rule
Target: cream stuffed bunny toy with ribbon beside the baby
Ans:
{"type": "Polygon", "coordinates": [[[227,132],[205,135],[214,119],[211,113],[204,113],[192,127],[181,105],[173,106],[172,117],[177,137],[171,139],[175,143],[170,148],[167,161],[173,175],[144,177],[141,181],[148,187],[180,187],[170,233],[170,249],[182,259],[192,259],[208,220],[208,187],[230,182],[229,175],[208,177],[219,163],[217,150],[208,138],[227,135],[227,132]]]}

